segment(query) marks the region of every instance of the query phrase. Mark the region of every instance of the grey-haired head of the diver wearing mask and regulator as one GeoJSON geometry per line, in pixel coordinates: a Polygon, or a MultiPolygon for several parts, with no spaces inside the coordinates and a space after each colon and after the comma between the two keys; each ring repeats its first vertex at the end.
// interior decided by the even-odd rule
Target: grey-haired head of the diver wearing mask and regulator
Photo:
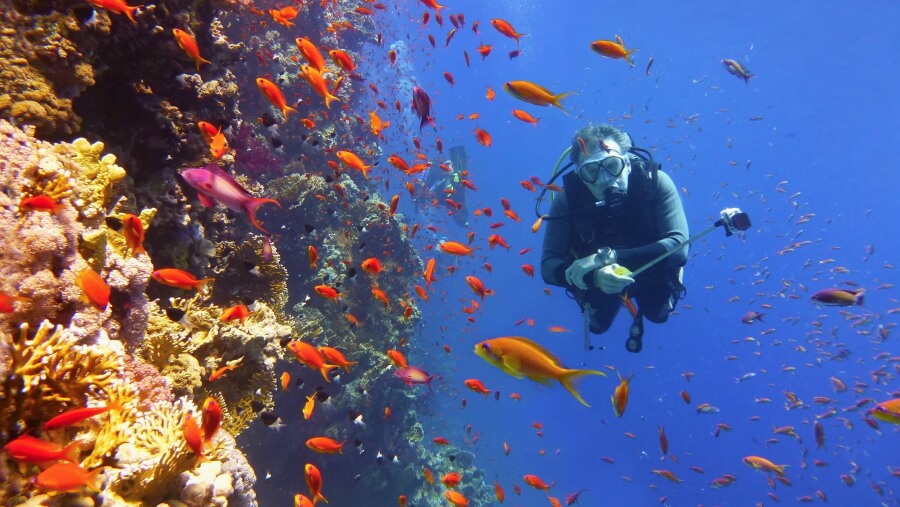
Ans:
{"type": "Polygon", "coordinates": [[[631,174],[631,139],[611,125],[588,125],[575,133],[570,158],[575,174],[600,198],[608,190],[624,193],[631,174]]]}

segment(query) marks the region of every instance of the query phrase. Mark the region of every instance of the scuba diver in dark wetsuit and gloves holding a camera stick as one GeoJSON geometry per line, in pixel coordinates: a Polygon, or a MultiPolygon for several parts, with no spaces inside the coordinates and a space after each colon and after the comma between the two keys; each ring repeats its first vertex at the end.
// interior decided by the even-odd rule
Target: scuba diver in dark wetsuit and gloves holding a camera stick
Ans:
{"type": "Polygon", "coordinates": [[[543,216],[541,275],[582,308],[586,348],[593,348],[588,330],[605,332],[624,305],[633,318],[626,348],[639,352],[643,317],[666,322],[686,295],[690,241],[681,198],[650,153],[611,125],[582,128],[567,151],[574,170],[543,216]]]}

